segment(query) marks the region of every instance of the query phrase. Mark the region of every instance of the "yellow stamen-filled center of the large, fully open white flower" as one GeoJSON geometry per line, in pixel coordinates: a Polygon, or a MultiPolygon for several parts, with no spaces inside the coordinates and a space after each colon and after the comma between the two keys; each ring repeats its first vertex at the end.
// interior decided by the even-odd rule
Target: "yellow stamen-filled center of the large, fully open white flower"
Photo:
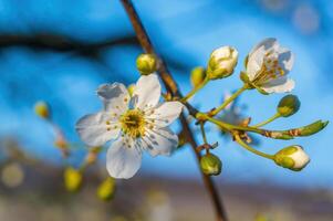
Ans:
{"type": "Polygon", "coordinates": [[[144,113],[138,109],[128,109],[121,117],[121,125],[123,133],[133,138],[144,136],[146,125],[144,113]]]}

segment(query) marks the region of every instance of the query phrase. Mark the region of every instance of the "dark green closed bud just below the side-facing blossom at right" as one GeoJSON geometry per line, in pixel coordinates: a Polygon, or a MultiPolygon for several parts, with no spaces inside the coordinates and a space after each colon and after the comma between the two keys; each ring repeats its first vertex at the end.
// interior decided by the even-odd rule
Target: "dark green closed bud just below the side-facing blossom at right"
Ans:
{"type": "Polygon", "coordinates": [[[278,105],[278,113],[283,117],[295,114],[301,106],[301,102],[295,95],[287,95],[282,97],[278,105]]]}

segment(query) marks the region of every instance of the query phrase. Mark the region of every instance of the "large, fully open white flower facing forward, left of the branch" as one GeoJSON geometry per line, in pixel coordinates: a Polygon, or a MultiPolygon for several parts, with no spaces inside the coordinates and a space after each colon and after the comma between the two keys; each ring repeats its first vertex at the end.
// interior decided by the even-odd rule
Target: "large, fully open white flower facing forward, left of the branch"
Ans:
{"type": "Polygon", "coordinates": [[[156,74],[141,76],[133,95],[123,84],[103,84],[97,95],[104,104],[102,112],[83,116],[76,131],[89,146],[113,140],[106,155],[106,169],[114,178],[131,178],[141,167],[143,150],[152,156],[170,155],[178,136],[168,126],[179,116],[183,104],[160,98],[156,74]]]}

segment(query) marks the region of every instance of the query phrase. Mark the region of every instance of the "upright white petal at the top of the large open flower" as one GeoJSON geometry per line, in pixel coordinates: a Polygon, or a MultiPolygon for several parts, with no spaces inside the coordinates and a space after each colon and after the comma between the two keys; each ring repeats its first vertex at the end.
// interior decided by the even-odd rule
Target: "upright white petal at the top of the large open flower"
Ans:
{"type": "Polygon", "coordinates": [[[143,75],[136,83],[133,97],[135,108],[147,109],[155,107],[160,97],[160,84],[156,74],[143,75]]]}

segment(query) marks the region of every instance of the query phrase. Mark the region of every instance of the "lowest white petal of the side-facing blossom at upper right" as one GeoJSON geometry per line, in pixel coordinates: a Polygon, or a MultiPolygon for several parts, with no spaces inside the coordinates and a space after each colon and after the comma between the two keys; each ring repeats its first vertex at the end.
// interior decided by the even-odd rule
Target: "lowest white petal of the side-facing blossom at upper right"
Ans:
{"type": "Polygon", "coordinates": [[[271,81],[261,88],[267,93],[284,93],[291,92],[295,86],[295,83],[291,78],[280,77],[278,80],[271,81]]]}

